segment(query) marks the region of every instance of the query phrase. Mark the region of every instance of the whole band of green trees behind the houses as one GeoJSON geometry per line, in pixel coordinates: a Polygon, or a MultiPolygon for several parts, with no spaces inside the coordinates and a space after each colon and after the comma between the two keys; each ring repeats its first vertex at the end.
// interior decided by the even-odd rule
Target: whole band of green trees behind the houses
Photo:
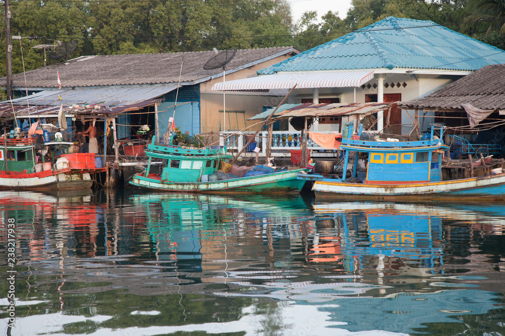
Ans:
{"type": "MultiPolygon", "coordinates": [[[[320,18],[306,12],[297,25],[287,0],[11,0],[10,4],[11,33],[24,37],[21,44],[12,41],[13,74],[23,71],[23,63],[26,71],[43,66],[43,50],[32,47],[56,46],[58,40],[78,41],[70,57],[213,47],[294,45],[307,50],[388,16],[431,20],[500,48],[505,32],[502,0],[352,0],[344,20],[337,12],[320,18]]],[[[2,16],[4,11],[0,7],[2,16]]],[[[3,34],[4,60],[5,49],[3,34]]],[[[0,62],[0,76],[5,75],[5,62],[0,62]]]]}

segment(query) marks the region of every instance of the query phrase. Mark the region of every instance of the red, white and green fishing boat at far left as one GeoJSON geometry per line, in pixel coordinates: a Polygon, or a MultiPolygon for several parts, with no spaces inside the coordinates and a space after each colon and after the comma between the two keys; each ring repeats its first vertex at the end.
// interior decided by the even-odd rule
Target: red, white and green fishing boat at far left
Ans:
{"type": "Polygon", "coordinates": [[[94,182],[91,176],[105,169],[95,167],[93,153],[63,154],[60,158],[53,154],[53,161],[45,161],[45,155],[40,155],[42,162],[38,163],[37,152],[40,149],[36,146],[43,148],[44,152],[49,150],[54,153],[51,147],[68,148],[73,143],[48,141],[36,145],[35,139],[8,139],[6,136],[0,138],[0,189],[86,189],[94,182]]]}

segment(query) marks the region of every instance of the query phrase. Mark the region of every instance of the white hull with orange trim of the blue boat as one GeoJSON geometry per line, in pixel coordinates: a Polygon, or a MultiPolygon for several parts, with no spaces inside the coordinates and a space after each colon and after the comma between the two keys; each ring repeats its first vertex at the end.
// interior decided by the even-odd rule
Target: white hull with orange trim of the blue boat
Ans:
{"type": "Polygon", "coordinates": [[[426,183],[361,184],[316,180],[312,187],[317,198],[351,195],[367,199],[473,197],[505,199],[505,173],[426,183]]]}

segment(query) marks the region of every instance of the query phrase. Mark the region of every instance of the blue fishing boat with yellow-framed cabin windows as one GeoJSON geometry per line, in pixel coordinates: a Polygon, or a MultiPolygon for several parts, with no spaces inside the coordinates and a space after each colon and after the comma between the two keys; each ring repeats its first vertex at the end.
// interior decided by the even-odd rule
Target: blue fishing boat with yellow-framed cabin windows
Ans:
{"type": "Polygon", "coordinates": [[[340,149],[345,151],[345,155],[340,175],[298,174],[298,178],[314,181],[312,190],[317,198],[342,195],[372,199],[505,198],[505,173],[442,180],[442,156],[449,147],[434,135],[435,130],[440,132],[440,139],[443,139],[443,126],[432,125],[430,137],[426,140],[370,141],[362,140],[364,137],[360,126],[356,140],[341,141],[340,149]],[[358,169],[358,157],[365,161],[366,166],[362,171],[358,169]],[[350,175],[349,158],[354,161],[350,175]]]}

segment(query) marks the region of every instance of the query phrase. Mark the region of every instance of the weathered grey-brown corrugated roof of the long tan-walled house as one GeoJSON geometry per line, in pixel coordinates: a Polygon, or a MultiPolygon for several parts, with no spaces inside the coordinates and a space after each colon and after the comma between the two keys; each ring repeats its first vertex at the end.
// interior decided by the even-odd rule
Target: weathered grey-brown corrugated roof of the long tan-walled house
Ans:
{"type": "MultiPolygon", "coordinates": [[[[297,54],[294,47],[239,49],[226,64],[226,73],[233,73],[248,66],[274,59],[282,55],[297,54]]],[[[13,75],[16,87],[58,88],[58,72],[64,87],[93,87],[114,85],[174,84],[179,81],[182,63],[182,83],[193,83],[219,76],[222,68],[204,70],[204,64],[214,56],[214,51],[168,52],[130,55],[81,56],[43,68],[13,75]]],[[[6,86],[6,78],[0,78],[0,86],[6,86]]]]}

